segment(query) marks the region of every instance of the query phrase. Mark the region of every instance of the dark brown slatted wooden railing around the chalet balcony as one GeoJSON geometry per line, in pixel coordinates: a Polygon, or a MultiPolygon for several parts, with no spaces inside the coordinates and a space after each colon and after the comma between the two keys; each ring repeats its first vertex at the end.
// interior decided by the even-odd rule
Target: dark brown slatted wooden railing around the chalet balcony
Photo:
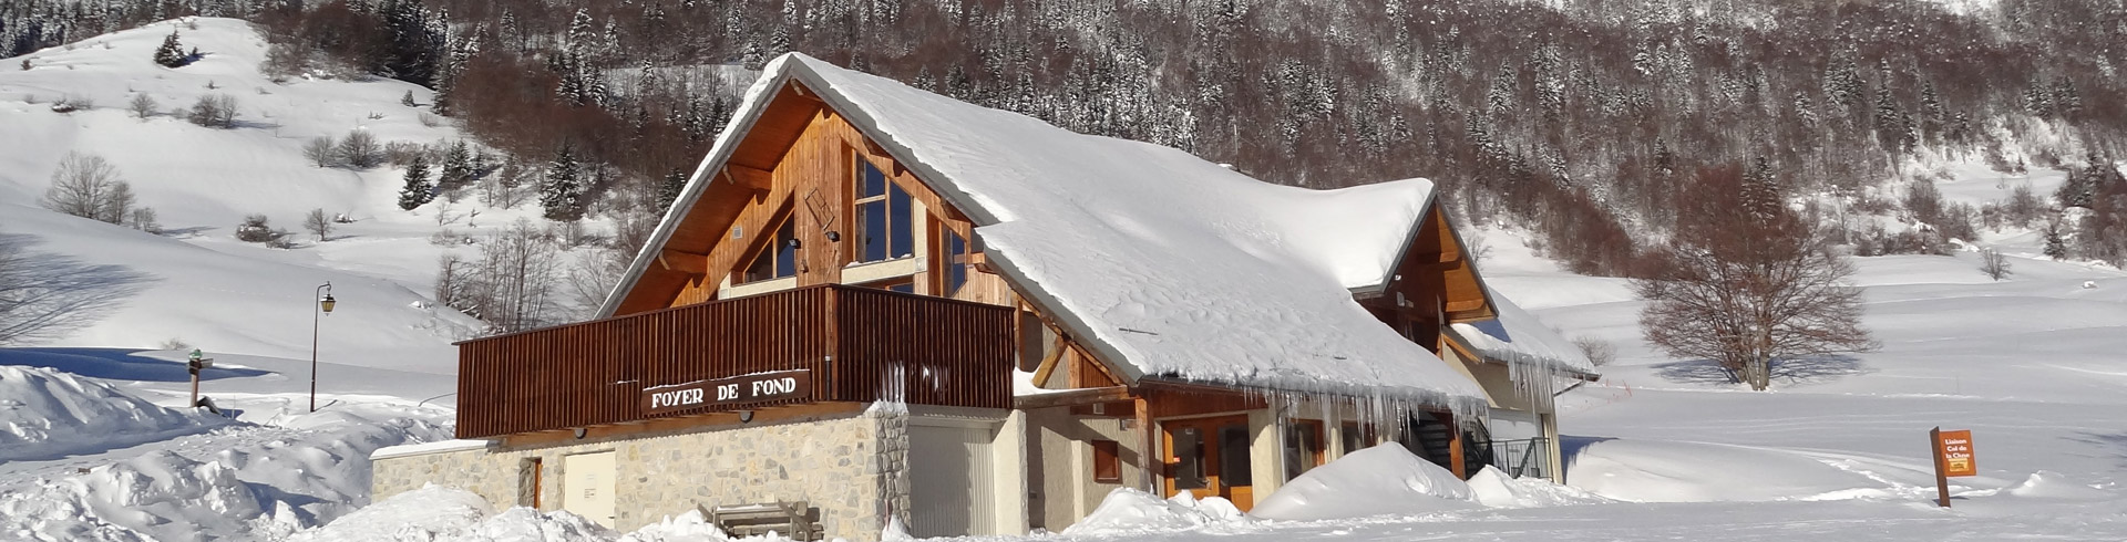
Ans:
{"type": "MultiPolygon", "coordinates": [[[[1012,308],[817,285],[457,342],[457,436],[802,402],[1010,408],[1012,308]],[[649,387],[804,372],[804,389],[651,412],[649,387]]],[[[710,391],[715,395],[715,391],[710,391]]]]}

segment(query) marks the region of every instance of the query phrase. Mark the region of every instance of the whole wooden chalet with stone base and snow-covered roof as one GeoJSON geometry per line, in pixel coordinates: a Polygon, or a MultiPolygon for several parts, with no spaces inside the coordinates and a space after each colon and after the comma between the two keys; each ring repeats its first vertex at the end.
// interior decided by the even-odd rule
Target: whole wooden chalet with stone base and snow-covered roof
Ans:
{"type": "Polygon", "coordinates": [[[1425,181],[1270,185],[793,53],[600,319],[459,344],[459,440],[381,451],[374,497],[876,540],[1246,510],[1383,442],[1557,476],[1548,380],[1589,370],[1508,317],[1425,181]]]}

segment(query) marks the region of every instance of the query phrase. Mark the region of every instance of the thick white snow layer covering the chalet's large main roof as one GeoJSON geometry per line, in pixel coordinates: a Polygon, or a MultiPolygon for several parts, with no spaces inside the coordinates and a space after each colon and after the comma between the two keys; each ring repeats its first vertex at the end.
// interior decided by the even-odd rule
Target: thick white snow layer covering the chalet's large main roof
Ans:
{"type": "MultiPolygon", "coordinates": [[[[1272,185],[1178,149],[1076,134],[798,53],[764,70],[727,134],[744,134],[787,81],[968,215],[991,266],[1132,380],[1483,397],[1351,293],[1389,278],[1431,204],[1429,181],[1272,185]]],[[[717,183],[704,172],[736,140],[717,142],[604,315],[717,183]]]]}

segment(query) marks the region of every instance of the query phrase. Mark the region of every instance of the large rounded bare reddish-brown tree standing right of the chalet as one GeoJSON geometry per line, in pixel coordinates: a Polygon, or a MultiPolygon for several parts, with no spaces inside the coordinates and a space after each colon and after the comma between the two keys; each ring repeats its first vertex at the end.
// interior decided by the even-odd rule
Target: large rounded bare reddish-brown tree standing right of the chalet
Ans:
{"type": "Polygon", "coordinates": [[[1776,187],[1746,187],[1736,166],[1702,170],[1680,196],[1676,236],[1657,249],[1663,266],[1631,281],[1648,302],[1640,332],[1751,389],[1772,385],[1774,361],[1876,349],[1861,289],[1846,285],[1855,268],[1827,247],[1776,187]]]}

